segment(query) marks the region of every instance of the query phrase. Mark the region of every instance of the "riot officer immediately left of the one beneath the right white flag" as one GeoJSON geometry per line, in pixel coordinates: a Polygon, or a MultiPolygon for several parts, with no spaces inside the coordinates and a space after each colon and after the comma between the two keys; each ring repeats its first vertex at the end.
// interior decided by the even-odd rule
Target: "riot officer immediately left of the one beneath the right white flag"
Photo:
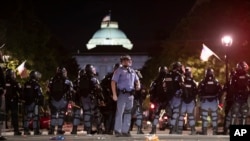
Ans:
{"type": "Polygon", "coordinates": [[[185,68],[185,78],[184,78],[184,85],[182,87],[182,101],[181,101],[181,109],[180,109],[180,116],[179,116],[179,123],[178,123],[178,133],[182,134],[183,129],[183,121],[184,117],[187,114],[189,126],[191,127],[191,135],[196,134],[195,131],[195,101],[197,95],[197,83],[193,79],[193,75],[191,72],[190,67],[185,68]]]}

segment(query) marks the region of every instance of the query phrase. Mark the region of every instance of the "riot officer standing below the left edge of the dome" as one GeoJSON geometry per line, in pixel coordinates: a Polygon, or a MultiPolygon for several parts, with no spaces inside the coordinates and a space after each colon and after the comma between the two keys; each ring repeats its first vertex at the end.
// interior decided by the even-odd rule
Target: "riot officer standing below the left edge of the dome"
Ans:
{"type": "Polygon", "coordinates": [[[84,130],[88,135],[93,134],[92,124],[96,123],[97,133],[102,133],[101,123],[102,114],[98,108],[103,104],[102,88],[99,80],[95,77],[96,70],[91,64],[87,64],[84,68],[85,73],[78,80],[78,92],[81,96],[81,104],[83,106],[83,124],[84,130]]]}

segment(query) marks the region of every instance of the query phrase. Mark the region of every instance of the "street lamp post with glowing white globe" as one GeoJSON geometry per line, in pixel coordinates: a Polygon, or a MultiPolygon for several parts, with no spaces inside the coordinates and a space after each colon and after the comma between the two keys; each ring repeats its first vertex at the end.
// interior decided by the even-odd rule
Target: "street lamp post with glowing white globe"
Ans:
{"type": "MultiPolygon", "coordinates": [[[[231,47],[233,39],[231,36],[224,36],[221,38],[222,45],[224,47],[231,47]]],[[[225,49],[225,63],[226,63],[226,83],[228,82],[228,49],[225,49]]]]}

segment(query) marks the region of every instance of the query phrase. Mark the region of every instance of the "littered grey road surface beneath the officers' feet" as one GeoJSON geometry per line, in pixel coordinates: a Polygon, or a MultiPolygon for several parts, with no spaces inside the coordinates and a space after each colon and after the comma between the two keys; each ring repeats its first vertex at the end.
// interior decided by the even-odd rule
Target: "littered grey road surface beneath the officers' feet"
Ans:
{"type": "MultiPolygon", "coordinates": [[[[80,127],[81,128],[81,127],[80,127]]],[[[95,141],[95,140],[106,140],[106,141],[147,141],[150,139],[148,134],[145,135],[137,135],[136,130],[131,131],[132,137],[115,137],[114,135],[93,135],[88,136],[83,131],[78,131],[77,135],[71,135],[69,128],[64,128],[66,133],[64,135],[64,141],[78,141],[78,140],[86,140],[86,141],[95,141]]],[[[199,127],[197,128],[200,131],[199,127]]],[[[149,129],[144,130],[145,133],[149,132],[149,129]]],[[[165,131],[157,131],[156,136],[159,141],[229,141],[229,135],[212,135],[212,130],[208,131],[208,135],[189,135],[190,131],[184,131],[182,135],[169,135],[168,130],[165,131]]],[[[47,141],[51,140],[51,137],[55,137],[52,135],[48,135],[47,130],[42,130],[42,135],[40,136],[13,136],[12,131],[6,131],[3,135],[7,138],[7,140],[11,141],[47,141]]],[[[149,140],[150,141],[150,140],[149,140]]],[[[151,140],[153,141],[153,140],[151,140]]]]}

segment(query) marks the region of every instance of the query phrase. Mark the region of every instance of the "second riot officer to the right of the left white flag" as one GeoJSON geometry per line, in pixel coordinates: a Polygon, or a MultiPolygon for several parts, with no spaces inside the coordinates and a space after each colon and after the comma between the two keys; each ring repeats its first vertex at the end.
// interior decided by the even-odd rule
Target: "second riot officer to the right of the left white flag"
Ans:
{"type": "Polygon", "coordinates": [[[58,125],[57,134],[65,133],[62,128],[67,105],[71,100],[72,89],[73,84],[67,78],[67,70],[64,67],[57,67],[55,76],[50,79],[48,84],[51,110],[49,135],[54,134],[56,123],[58,125]]]}

